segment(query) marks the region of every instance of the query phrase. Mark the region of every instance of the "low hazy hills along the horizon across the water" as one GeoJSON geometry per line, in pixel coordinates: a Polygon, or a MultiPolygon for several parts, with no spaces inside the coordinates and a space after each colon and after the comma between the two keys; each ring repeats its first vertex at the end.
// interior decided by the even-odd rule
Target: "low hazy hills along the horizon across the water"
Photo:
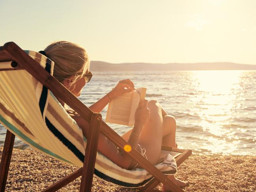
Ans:
{"type": "Polygon", "coordinates": [[[237,63],[120,63],[92,61],[91,71],[190,71],[190,70],[256,70],[256,65],[237,63]]]}

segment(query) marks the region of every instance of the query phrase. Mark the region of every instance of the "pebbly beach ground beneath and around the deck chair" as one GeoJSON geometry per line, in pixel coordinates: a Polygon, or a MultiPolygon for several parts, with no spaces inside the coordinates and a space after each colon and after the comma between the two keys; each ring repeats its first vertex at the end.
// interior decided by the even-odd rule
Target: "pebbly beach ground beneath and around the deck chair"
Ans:
{"type": "MultiPolygon", "coordinates": [[[[0,147],[2,157],[3,147],[0,147]]],[[[68,175],[77,167],[62,163],[43,155],[34,149],[13,149],[7,178],[6,191],[41,191],[47,186],[68,175]]],[[[189,181],[185,191],[256,191],[256,157],[249,156],[192,156],[179,166],[176,177],[189,181]]],[[[59,190],[60,192],[79,191],[80,178],[59,190]]],[[[157,186],[161,189],[162,184],[157,186]]],[[[121,188],[101,179],[93,178],[93,192],[135,192],[121,188]]]]}

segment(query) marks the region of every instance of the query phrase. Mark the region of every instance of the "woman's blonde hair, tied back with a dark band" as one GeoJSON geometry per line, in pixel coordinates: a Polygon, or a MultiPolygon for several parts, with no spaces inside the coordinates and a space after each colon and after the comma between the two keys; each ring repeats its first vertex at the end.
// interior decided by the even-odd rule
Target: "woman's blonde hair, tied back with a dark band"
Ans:
{"type": "Polygon", "coordinates": [[[74,76],[72,86],[89,71],[90,60],[85,48],[68,41],[57,41],[45,48],[47,57],[54,62],[53,76],[60,82],[74,76]]]}

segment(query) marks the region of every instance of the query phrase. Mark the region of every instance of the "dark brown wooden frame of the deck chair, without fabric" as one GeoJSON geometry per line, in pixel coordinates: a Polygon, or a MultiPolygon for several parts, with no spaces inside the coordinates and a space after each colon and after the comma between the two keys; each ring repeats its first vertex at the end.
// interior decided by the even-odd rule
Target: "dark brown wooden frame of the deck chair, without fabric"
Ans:
{"type": "MultiPolygon", "coordinates": [[[[87,138],[87,146],[85,151],[84,166],[83,168],[74,171],[70,175],[64,177],[60,181],[56,182],[52,186],[46,188],[45,192],[56,191],[63,186],[67,185],[77,177],[82,175],[80,192],[90,192],[92,188],[92,179],[95,166],[95,159],[97,154],[97,143],[99,140],[99,133],[101,132],[108,138],[113,144],[123,149],[123,146],[128,143],[121,138],[113,129],[111,129],[104,121],[101,120],[101,114],[93,113],[88,107],[86,107],[77,97],[75,97],[68,89],[66,89],[58,80],[51,76],[46,70],[44,70],[39,64],[32,59],[26,52],[24,52],[19,46],[13,42],[6,43],[0,47],[0,62],[14,61],[17,64],[13,65],[13,69],[0,69],[3,70],[21,70],[24,69],[30,73],[34,78],[46,86],[54,95],[58,95],[62,101],[67,103],[73,110],[75,110],[82,118],[90,123],[89,136],[87,138]],[[92,139],[93,138],[93,139],[92,139]]],[[[82,130],[84,134],[84,130],[82,130]]],[[[6,133],[6,140],[4,143],[4,150],[2,153],[2,159],[0,164],[0,191],[5,190],[7,175],[9,170],[9,164],[11,160],[11,154],[13,150],[13,144],[15,135],[9,130],[6,133]]],[[[184,160],[186,160],[191,154],[191,150],[176,149],[172,147],[162,147],[163,150],[174,151],[182,153],[176,158],[176,163],[179,166],[184,160]]],[[[136,149],[127,153],[133,160],[135,160],[142,168],[147,170],[154,178],[144,187],[140,188],[140,191],[155,191],[153,188],[159,183],[163,183],[170,187],[173,192],[182,192],[183,190],[173,183],[167,175],[164,175],[153,164],[151,164],[146,158],[144,158],[136,149]]]]}

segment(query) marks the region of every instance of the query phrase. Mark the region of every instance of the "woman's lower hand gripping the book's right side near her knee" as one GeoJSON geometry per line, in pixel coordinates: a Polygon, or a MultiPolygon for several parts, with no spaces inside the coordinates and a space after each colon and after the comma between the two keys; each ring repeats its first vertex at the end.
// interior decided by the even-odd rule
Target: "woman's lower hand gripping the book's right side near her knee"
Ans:
{"type": "Polygon", "coordinates": [[[150,111],[148,108],[148,100],[144,99],[140,101],[138,108],[136,109],[135,123],[138,123],[143,126],[148,121],[149,116],[150,116],[150,111]]]}

